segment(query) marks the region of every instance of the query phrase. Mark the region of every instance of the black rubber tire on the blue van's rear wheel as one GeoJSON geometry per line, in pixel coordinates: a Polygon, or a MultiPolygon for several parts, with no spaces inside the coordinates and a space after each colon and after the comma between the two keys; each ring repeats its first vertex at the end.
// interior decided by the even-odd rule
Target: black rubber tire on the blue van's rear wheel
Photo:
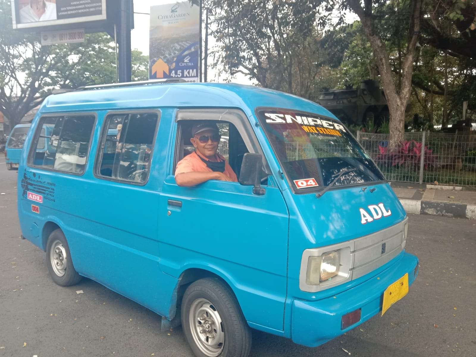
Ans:
{"type": "MultiPolygon", "coordinates": [[[[56,261],[59,261],[59,259],[56,259],[56,261]]],[[[61,229],[55,229],[51,232],[50,237],[48,237],[48,242],[46,244],[46,264],[48,266],[48,271],[50,272],[50,276],[53,281],[62,287],[69,287],[71,285],[78,284],[79,280],[81,280],[81,276],[74,269],[73,262],[71,260],[71,254],[69,253],[68,241],[66,240],[66,237],[64,236],[63,231],[61,229]],[[60,242],[60,247],[57,246],[57,242],[60,242]],[[64,258],[66,258],[66,265],[64,269],[53,267],[51,250],[54,249],[54,243],[55,247],[60,250],[60,258],[63,257],[61,262],[64,262],[64,258]],[[63,275],[60,275],[60,270],[64,270],[63,275]]],[[[62,267],[63,266],[61,266],[61,268],[62,267]]]]}

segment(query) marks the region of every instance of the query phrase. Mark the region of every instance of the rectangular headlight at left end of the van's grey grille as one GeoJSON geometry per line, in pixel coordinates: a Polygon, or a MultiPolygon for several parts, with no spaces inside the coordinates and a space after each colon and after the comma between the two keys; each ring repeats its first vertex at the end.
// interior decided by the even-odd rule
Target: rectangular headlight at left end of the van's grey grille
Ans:
{"type": "Polygon", "coordinates": [[[318,285],[339,274],[340,251],[325,253],[320,257],[309,257],[307,260],[306,284],[318,285]]]}

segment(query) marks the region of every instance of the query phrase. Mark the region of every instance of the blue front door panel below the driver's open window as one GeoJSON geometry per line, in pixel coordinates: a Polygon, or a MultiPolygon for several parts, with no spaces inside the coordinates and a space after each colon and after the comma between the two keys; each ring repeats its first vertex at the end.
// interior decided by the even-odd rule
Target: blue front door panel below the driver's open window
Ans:
{"type": "Polygon", "coordinates": [[[176,278],[188,268],[218,272],[249,323],[282,331],[289,218],[279,189],[258,196],[251,186],[222,181],[185,188],[169,176],[159,207],[163,271],[176,278]]]}

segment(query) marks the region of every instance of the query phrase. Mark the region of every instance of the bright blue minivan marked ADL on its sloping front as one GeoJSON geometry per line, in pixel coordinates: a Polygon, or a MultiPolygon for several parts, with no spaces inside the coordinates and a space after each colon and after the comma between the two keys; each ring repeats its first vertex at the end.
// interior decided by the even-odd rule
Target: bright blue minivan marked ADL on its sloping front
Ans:
{"type": "Polygon", "coordinates": [[[181,324],[200,357],[247,356],[251,329],[319,346],[383,315],[418,273],[405,210],[365,150],[329,111],[275,90],[147,82],[51,95],[18,187],[23,237],[55,283],[88,277],[129,297],[163,328],[181,324]],[[227,138],[218,150],[238,182],[177,185],[198,121],[227,138]]]}

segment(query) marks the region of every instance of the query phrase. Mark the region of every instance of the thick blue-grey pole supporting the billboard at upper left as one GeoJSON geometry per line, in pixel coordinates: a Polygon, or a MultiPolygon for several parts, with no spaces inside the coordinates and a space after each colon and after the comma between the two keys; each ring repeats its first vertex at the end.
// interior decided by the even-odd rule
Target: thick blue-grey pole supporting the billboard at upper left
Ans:
{"type": "Polygon", "coordinates": [[[134,10],[132,0],[119,0],[119,83],[131,81],[130,30],[134,10]]]}

